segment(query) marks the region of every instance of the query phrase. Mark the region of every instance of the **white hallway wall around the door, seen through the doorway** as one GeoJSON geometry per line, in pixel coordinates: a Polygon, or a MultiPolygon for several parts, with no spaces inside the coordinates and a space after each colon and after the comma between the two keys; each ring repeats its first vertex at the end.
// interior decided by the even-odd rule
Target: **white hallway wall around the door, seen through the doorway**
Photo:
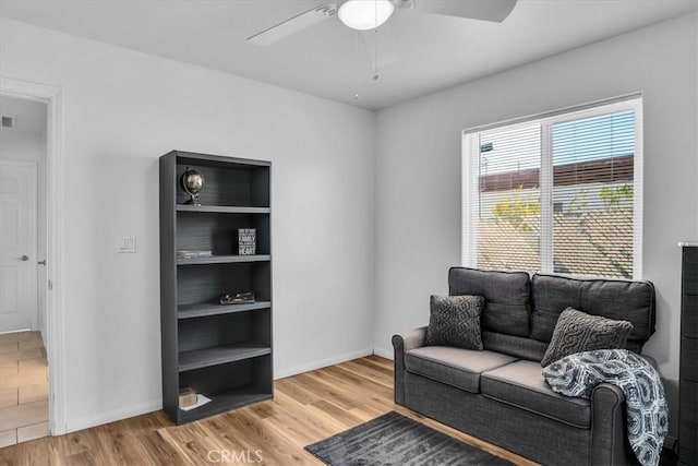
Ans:
{"type": "MultiPolygon", "coordinates": [[[[36,225],[36,258],[32,261],[46,259],[46,104],[22,100],[13,97],[0,96],[0,110],[3,116],[15,116],[15,128],[0,129],[0,158],[5,160],[31,160],[37,166],[37,225],[36,225]],[[36,121],[41,118],[41,121],[36,121]]],[[[37,304],[38,330],[44,342],[47,340],[46,322],[46,267],[37,268],[37,304]]]]}

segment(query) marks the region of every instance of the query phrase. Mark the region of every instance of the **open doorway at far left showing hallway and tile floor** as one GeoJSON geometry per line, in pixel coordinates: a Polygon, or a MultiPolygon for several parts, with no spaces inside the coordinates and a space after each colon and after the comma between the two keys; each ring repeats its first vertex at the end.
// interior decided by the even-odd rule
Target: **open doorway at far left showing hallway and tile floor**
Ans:
{"type": "Polygon", "coordinates": [[[0,96],[0,446],[49,434],[44,101],[0,96]]]}

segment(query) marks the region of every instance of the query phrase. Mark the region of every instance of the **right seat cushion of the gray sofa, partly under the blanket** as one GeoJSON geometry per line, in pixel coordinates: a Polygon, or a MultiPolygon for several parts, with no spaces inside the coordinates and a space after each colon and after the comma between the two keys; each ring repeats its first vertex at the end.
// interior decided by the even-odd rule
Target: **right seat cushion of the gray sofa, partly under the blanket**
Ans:
{"type": "Polygon", "coordinates": [[[590,402],[553,392],[535,361],[519,360],[488,371],[480,378],[482,395],[559,422],[589,429],[590,402]]]}

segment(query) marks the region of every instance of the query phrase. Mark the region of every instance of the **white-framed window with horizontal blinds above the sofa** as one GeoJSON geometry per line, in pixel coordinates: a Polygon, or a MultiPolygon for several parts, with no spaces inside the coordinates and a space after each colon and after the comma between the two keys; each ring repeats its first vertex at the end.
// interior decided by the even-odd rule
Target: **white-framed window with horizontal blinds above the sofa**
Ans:
{"type": "Polygon", "coordinates": [[[468,130],[462,262],[641,275],[641,99],[468,130]]]}

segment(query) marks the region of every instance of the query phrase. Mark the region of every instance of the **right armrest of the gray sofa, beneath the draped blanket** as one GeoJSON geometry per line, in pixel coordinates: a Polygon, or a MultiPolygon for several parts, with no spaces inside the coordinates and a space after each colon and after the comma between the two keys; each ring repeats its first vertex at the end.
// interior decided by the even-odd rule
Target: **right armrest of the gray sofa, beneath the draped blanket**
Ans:
{"type": "Polygon", "coordinates": [[[634,464],[625,430],[625,394],[615,385],[600,383],[591,392],[590,464],[634,464]]]}

